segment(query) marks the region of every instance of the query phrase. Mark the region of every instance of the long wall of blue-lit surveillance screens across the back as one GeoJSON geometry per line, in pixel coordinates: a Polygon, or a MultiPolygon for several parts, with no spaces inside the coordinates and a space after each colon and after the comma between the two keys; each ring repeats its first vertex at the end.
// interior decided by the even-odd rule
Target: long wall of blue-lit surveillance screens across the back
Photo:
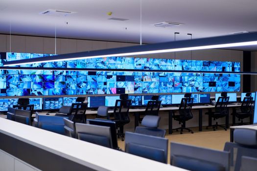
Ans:
{"type": "MultiPolygon", "coordinates": [[[[6,53],[6,60],[42,56],[47,54],[6,53]]],[[[0,96],[240,91],[240,74],[165,72],[165,70],[239,72],[239,62],[109,57],[21,66],[33,68],[0,70],[0,96]],[[36,70],[34,67],[118,68],[146,71],[36,70]],[[149,72],[152,69],[163,71],[149,72]]]]}

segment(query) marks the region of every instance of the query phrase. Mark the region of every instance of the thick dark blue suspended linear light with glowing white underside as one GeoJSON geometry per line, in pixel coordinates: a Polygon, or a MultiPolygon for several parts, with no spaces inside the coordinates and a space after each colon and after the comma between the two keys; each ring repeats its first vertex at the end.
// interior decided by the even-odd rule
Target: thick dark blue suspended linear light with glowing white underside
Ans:
{"type": "Polygon", "coordinates": [[[192,39],[177,42],[166,42],[156,44],[146,44],[130,47],[119,47],[104,50],[94,50],[86,52],[77,52],[62,54],[50,57],[23,59],[17,61],[4,62],[3,66],[35,64],[57,61],[81,60],[89,58],[103,58],[112,56],[132,56],[153,53],[178,52],[187,50],[200,50],[212,48],[225,48],[257,45],[257,33],[246,33],[238,35],[219,36],[202,39],[192,39]]]}

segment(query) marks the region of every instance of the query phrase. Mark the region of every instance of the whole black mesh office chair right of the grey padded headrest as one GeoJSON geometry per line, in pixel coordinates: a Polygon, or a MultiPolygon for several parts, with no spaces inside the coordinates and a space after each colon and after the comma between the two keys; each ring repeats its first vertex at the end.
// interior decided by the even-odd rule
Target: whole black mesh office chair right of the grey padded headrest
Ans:
{"type": "Polygon", "coordinates": [[[114,119],[112,119],[118,129],[118,138],[124,141],[124,125],[130,122],[129,118],[129,107],[131,105],[131,100],[116,100],[114,107],[114,119]]]}

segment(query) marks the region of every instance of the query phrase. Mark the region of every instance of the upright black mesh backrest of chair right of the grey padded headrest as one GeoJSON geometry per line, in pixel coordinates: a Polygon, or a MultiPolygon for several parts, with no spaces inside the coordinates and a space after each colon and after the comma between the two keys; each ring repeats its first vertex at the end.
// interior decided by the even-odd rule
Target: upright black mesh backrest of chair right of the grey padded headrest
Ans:
{"type": "Polygon", "coordinates": [[[114,107],[114,118],[119,121],[130,121],[129,107],[131,100],[116,100],[114,107]]]}

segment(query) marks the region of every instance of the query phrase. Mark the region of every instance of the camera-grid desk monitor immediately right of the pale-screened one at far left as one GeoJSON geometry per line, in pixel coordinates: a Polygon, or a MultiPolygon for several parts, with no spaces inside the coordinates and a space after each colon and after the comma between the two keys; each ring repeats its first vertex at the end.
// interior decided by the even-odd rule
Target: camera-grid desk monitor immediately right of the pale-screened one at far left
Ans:
{"type": "Polygon", "coordinates": [[[63,106],[62,97],[43,98],[43,110],[56,110],[63,106]]]}

